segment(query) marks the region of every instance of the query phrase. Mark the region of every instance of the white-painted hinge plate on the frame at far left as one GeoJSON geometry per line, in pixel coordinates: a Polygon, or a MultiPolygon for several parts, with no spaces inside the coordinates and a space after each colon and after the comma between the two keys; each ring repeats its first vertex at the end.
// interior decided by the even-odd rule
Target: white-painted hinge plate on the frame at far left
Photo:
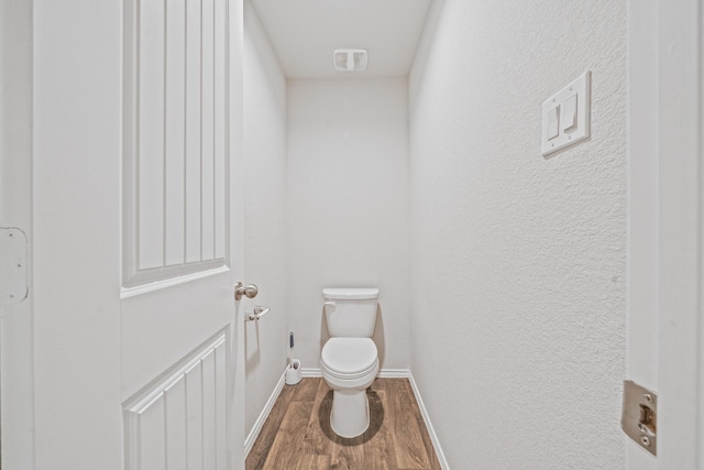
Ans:
{"type": "Polygon", "coordinates": [[[28,287],[26,234],[15,227],[0,227],[0,305],[24,300],[28,287]]]}

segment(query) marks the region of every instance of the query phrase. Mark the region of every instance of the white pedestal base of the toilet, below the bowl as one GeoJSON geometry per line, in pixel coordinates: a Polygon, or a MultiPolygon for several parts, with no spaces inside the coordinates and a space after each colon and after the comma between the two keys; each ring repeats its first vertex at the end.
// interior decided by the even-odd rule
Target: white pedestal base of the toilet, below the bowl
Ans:
{"type": "Polygon", "coordinates": [[[352,438],[370,427],[370,401],[366,390],[334,390],[330,426],[340,437],[352,438]]]}

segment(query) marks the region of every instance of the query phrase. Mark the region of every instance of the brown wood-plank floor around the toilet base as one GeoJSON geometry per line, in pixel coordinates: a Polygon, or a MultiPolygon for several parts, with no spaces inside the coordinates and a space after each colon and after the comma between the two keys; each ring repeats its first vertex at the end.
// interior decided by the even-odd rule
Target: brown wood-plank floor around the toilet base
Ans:
{"type": "Polygon", "coordinates": [[[345,439],[330,428],[332,390],[322,379],[284,385],[246,470],[440,470],[407,379],[376,379],[366,391],[370,428],[345,439]]]}

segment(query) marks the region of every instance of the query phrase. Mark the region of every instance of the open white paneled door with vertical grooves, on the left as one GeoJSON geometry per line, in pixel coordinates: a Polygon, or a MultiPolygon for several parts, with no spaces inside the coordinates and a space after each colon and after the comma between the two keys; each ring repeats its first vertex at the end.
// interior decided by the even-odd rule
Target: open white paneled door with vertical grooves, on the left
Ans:
{"type": "Polygon", "coordinates": [[[242,1],[14,3],[30,6],[15,10],[31,19],[31,164],[3,154],[2,181],[28,175],[31,327],[13,373],[31,390],[2,433],[32,441],[1,461],[241,469],[242,1]]]}

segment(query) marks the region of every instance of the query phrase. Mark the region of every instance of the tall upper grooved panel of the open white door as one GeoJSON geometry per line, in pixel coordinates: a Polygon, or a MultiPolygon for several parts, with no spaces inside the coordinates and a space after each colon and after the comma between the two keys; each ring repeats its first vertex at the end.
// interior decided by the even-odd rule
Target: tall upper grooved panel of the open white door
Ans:
{"type": "Polygon", "coordinates": [[[226,264],[226,7],[124,3],[124,287],[226,264]]]}

